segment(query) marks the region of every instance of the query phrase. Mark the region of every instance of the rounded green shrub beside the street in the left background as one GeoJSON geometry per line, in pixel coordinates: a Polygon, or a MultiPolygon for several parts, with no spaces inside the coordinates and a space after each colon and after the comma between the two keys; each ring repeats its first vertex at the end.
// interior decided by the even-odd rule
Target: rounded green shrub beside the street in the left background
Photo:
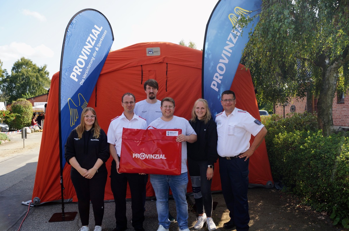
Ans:
{"type": "Polygon", "coordinates": [[[16,130],[28,127],[31,125],[31,118],[33,115],[33,107],[27,99],[17,99],[11,104],[12,113],[16,113],[16,118],[9,122],[10,128],[16,130]]]}

